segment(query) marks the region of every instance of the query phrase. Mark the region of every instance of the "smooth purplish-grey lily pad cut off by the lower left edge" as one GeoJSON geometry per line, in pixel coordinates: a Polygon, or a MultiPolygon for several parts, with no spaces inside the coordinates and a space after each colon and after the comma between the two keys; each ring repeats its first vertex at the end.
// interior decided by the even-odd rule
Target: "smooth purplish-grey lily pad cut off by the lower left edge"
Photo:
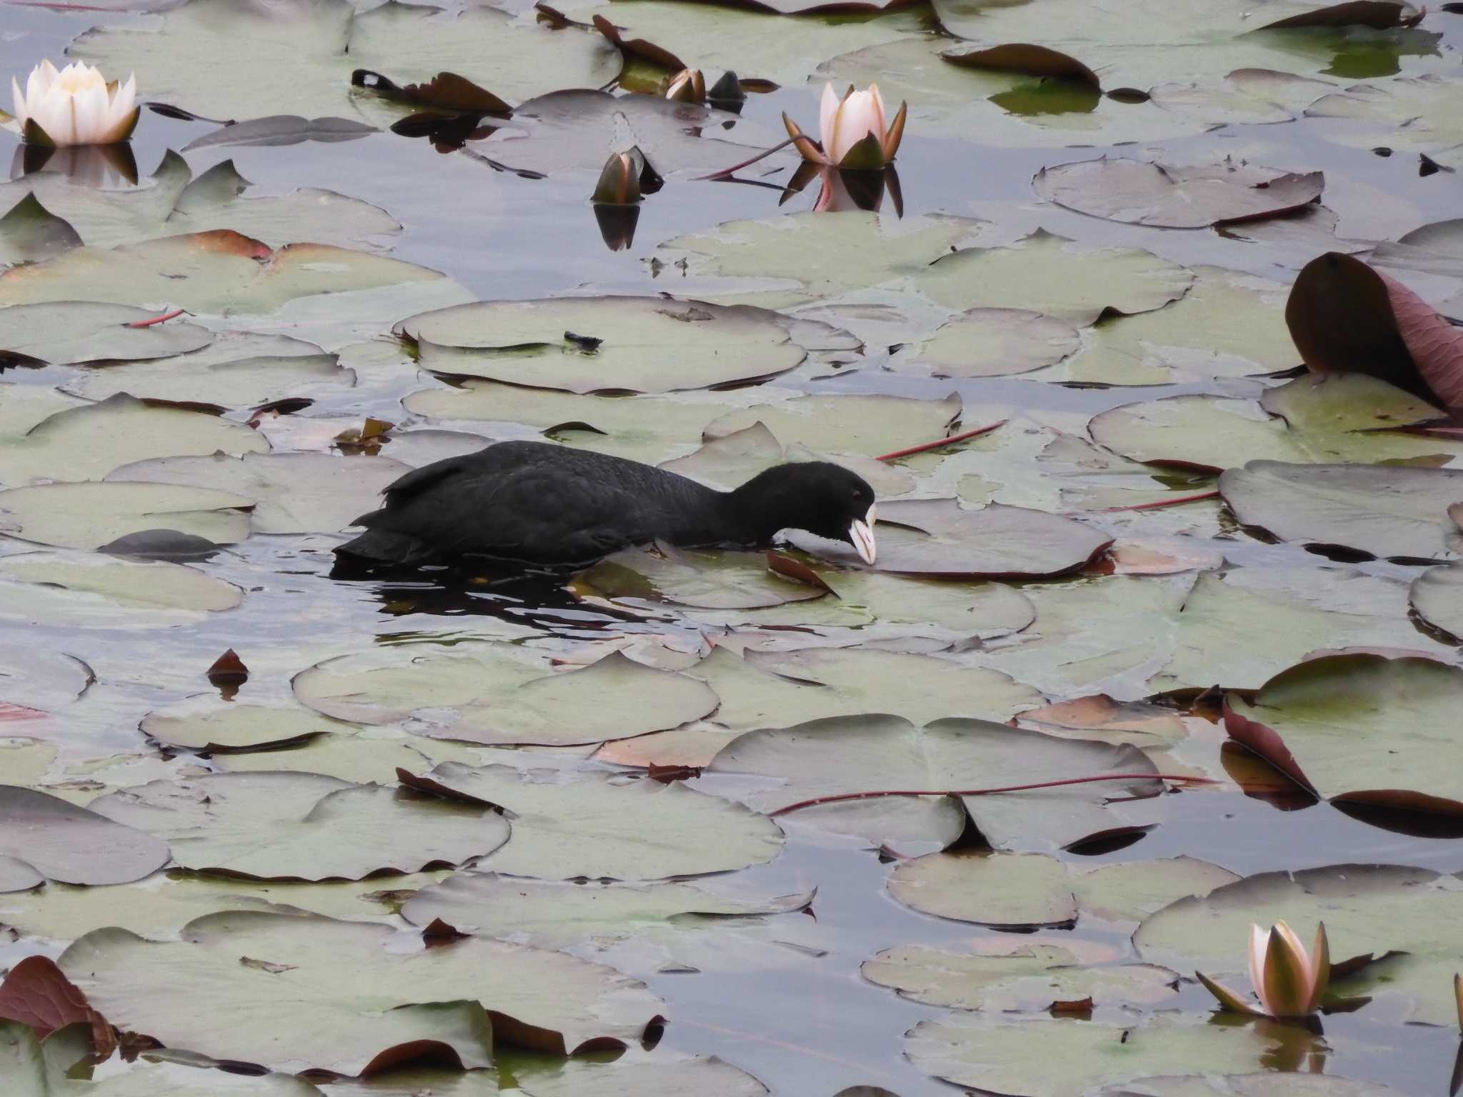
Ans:
{"type": "Polygon", "coordinates": [[[0,881],[20,866],[63,883],[126,883],[168,863],[167,842],[34,788],[0,785],[0,881]],[[18,864],[19,863],[19,864],[18,864]]]}

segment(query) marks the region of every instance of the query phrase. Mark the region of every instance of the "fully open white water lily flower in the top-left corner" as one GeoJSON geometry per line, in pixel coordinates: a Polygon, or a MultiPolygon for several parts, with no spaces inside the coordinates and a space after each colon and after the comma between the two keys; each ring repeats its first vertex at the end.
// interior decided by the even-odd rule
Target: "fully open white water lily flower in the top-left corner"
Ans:
{"type": "Polygon", "coordinates": [[[41,61],[31,70],[25,95],[15,78],[10,91],[15,120],[7,129],[32,145],[114,145],[132,136],[142,110],[135,76],[119,88],[85,61],[64,69],[41,61]]]}

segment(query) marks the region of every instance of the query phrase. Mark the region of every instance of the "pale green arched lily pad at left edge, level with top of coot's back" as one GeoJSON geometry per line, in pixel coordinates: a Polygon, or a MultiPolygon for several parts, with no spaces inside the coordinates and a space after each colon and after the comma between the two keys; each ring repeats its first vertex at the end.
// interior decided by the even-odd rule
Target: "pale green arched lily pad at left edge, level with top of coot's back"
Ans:
{"type": "Polygon", "coordinates": [[[268,449],[259,433],[240,423],[119,393],[59,411],[0,448],[0,483],[99,480],[119,465],[154,456],[268,449]]]}

